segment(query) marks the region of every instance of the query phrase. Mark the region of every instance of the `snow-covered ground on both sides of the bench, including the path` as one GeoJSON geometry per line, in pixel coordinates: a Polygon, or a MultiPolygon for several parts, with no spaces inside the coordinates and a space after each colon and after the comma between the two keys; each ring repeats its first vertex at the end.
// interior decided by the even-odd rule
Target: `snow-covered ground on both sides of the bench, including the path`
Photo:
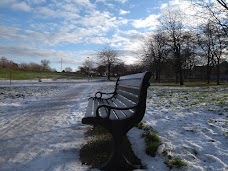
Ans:
{"type": "MultiPolygon", "coordinates": [[[[13,81],[10,86],[0,80],[0,170],[88,170],[79,160],[88,129],[81,118],[88,97],[113,86],[86,80],[13,81]]],[[[156,157],[150,157],[142,130],[128,133],[144,170],[170,170],[164,151],[187,162],[181,170],[228,170],[228,87],[151,86],[143,122],[162,140],[156,157]]]]}

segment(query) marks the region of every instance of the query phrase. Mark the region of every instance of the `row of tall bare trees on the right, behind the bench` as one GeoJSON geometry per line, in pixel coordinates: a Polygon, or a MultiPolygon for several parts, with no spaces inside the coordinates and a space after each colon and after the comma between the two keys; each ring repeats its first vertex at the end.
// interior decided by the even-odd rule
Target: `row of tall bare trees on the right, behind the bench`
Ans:
{"type": "Polygon", "coordinates": [[[212,70],[216,68],[219,84],[220,64],[227,55],[228,8],[225,1],[218,0],[218,4],[223,9],[219,8],[219,14],[215,4],[204,1],[197,4],[210,14],[210,18],[197,28],[184,25],[180,10],[163,13],[159,31],[148,35],[141,52],[143,65],[155,73],[158,82],[162,75],[175,75],[176,82],[183,85],[185,73],[191,77],[193,67],[201,65],[206,66],[208,83],[212,70]]]}

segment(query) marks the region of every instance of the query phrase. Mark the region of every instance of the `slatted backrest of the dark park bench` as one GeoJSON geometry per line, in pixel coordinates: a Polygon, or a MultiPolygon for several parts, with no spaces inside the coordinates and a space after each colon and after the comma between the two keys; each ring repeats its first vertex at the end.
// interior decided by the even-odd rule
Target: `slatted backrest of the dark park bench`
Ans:
{"type": "Polygon", "coordinates": [[[141,120],[146,109],[147,88],[149,87],[150,72],[143,72],[119,77],[116,82],[116,98],[126,106],[137,105],[134,113],[136,120],[141,120]]]}

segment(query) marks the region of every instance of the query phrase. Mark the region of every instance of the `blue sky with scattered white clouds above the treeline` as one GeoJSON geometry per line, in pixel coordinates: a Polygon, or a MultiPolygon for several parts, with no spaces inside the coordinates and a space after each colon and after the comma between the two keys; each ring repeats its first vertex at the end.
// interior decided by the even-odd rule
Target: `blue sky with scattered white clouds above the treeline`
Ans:
{"type": "Polygon", "coordinates": [[[164,8],[185,0],[0,0],[0,57],[16,63],[50,61],[50,67],[73,71],[109,46],[125,64],[148,32],[156,31],[164,8]]]}

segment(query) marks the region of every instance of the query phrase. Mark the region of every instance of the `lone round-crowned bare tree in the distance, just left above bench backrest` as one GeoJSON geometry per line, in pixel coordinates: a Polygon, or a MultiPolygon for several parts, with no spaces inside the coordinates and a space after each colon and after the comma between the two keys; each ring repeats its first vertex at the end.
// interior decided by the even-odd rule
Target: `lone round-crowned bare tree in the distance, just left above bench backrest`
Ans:
{"type": "Polygon", "coordinates": [[[111,49],[111,47],[105,47],[100,52],[97,53],[98,63],[100,65],[107,67],[107,76],[110,80],[111,67],[119,62],[118,59],[119,52],[117,50],[111,49]]]}

